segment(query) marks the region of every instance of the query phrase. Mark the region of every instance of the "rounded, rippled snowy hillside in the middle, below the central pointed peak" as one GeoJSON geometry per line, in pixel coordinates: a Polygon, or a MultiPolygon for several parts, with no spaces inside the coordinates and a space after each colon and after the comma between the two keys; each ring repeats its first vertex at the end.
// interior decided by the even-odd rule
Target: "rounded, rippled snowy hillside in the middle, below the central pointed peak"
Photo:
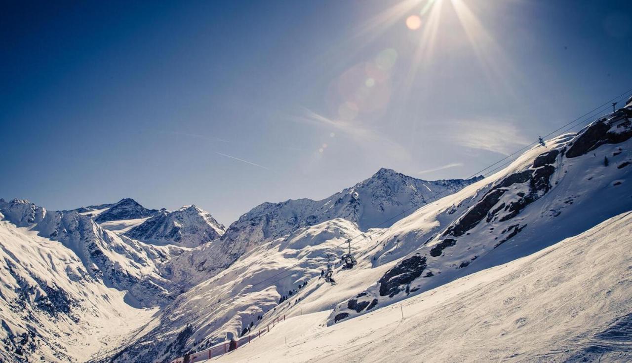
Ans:
{"type": "MultiPolygon", "coordinates": [[[[361,259],[355,279],[341,280],[333,287],[319,279],[328,261],[339,265],[336,246],[361,234],[355,223],[336,218],[255,247],[178,297],[164,309],[156,328],[126,347],[115,361],[170,360],[191,347],[199,350],[240,336],[251,323],[265,325],[274,314],[304,299],[306,312],[331,309],[366,289],[388,267],[370,268],[370,260],[361,259]]],[[[372,246],[367,238],[353,250],[360,257],[372,246]]]]}

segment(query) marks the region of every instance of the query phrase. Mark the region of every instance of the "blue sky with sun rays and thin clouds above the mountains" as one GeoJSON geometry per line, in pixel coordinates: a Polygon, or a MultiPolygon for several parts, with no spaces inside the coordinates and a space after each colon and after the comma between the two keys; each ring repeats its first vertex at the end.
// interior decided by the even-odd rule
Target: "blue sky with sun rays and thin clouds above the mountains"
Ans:
{"type": "Polygon", "coordinates": [[[632,88],[624,0],[27,1],[0,17],[0,197],[50,210],[134,198],[228,225],[380,167],[469,177],[632,88]]]}

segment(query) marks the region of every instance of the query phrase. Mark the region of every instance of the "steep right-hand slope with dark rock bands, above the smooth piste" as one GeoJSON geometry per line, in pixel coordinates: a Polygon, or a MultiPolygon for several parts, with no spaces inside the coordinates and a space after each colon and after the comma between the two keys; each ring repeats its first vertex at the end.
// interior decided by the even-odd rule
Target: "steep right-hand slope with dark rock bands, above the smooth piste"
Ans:
{"type": "Polygon", "coordinates": [[[631,110],[536,146],[505,170],[416,211],[380,237],[377,283],[333,324],[578,234],[631,206],[631,110]]]}

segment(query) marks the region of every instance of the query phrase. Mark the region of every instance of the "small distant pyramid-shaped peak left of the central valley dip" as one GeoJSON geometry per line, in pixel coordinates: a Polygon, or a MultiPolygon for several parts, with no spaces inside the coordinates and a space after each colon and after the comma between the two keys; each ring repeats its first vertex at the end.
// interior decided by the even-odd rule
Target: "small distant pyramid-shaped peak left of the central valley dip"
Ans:
{"type": "Polygon", "coordinates": [[[225,231],[210,213],[192,205],[175,211],[161,210],[125,235],[152,244],[197,247],[221,237],[225,231]]]}

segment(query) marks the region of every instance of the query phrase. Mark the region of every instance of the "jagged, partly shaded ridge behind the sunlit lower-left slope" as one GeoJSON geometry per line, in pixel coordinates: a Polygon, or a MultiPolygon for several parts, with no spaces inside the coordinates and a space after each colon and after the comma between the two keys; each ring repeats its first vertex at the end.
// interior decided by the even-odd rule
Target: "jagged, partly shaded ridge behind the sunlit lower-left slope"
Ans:
{"type": "Polygon", "coordinates": [[[47,211],[27,200],[0,199],[0,213],[18,227],[61,242],[82,261],[90,277],[127,290],[126,301],[134,306],[162,305],[173,299],[173,284],[161,277],[157,264],[181,252],[175,247],[143,244],[102,229],[90,216],[47,211]]]}

